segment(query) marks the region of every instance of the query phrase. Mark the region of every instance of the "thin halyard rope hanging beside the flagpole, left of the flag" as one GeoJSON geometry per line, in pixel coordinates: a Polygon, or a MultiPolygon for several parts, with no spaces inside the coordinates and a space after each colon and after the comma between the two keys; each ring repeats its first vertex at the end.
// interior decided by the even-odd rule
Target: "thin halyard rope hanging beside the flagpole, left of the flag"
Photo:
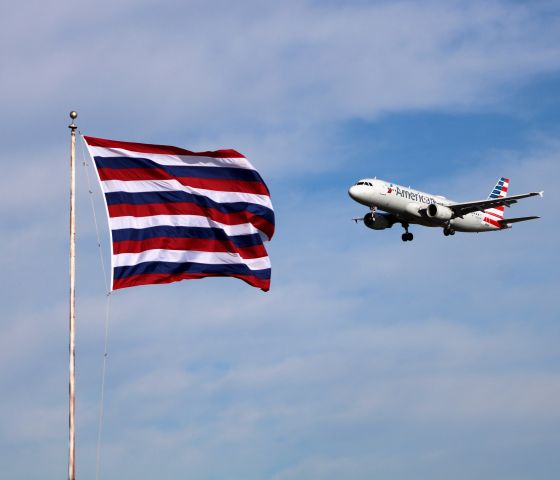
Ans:
{"type": "MultiPolygon", "coordinates": [[[[80,132],[81,135],[81,132],[80,132]]],[[[111,306],[111,290],[109,288],[109,282],[107,280],[107,268],[105,267],[105,260],[103,259],[103,251],[101,249],[101,236],[99,234],[99,223],[97,221],[97,215],[95,213],[95,205],[93,201],[93,190],[91,189],[91,181],[89,177],[89,163],[86,160],[85,150],[84,150],[84,140],[82,138],[82,165],[86,172],[87,187],[89,192],[91,211],[93,214],[93,221],[95,223],[95,233],[97,235],[97,247],[99,250],[99,259],[101,262],[101,269],[103,271],[103,280],[105,282],[106,293],[106,303],[105,303],[105,339],[103,345],[103,366],[101,368],[101,393],[99,398],[99,419],[97,424],[97,445],[96,445],[96,455],[95,455],[95,479],[99,480],[99,475],[101,472],[101,436],[103,432],[103,418],[105,411],[105,379],[107,377],[107,358],[109,357],[109,319],[110,319],[110,306],[111,306]]]]}

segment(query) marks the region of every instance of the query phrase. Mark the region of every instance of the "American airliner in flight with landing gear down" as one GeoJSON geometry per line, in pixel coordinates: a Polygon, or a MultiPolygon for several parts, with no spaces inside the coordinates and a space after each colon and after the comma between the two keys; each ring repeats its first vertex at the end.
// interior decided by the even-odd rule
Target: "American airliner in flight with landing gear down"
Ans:
{"type": "Polygon", "coordinates": [[[455,232],[493,232],[511,228],[513,223],[534,220],[536,216],[504,218],[504,207],[519,200],[543,196],[544,192],[530,192],[508,197],[509,179],[500,178],[486,200],[454,202],[441,195],[431,195],[410,187],[378,178],[364,178],[352,185],[348,194],[358,203],[370,208],[363,218],[366,227],[385,230],[400,223],[405,230],[403,242],[412,241],[408,231],[411,224],[443,228],[447,237],[455,232]],[[379,211],[382,210],[382,211],[379,211]]]}

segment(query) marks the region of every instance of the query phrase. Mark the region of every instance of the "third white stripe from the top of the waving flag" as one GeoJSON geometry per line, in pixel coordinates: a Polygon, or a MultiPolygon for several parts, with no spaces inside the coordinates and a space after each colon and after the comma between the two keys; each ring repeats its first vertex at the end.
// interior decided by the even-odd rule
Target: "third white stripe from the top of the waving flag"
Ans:
{"type": "Polygon", "coordinates": [[[228,236],[235,235],[253,235],[255,233],[268,238],[253,224],[240,223],[238,225],[226,225],[225,223],[216,222],[208,217],[200,215],[152,215],[151,217],[113,217],[109,218],[111,230],[119,230],[122,228],[150,228],[150,227],[201,227],[201,228],[219,228],[228,236]]]}

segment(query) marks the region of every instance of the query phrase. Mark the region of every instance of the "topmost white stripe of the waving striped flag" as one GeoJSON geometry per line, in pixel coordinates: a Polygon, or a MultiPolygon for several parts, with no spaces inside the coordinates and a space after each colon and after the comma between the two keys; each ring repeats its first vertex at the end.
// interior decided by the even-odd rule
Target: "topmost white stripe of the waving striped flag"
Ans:
{"type": "Polygon", "coordinates": [[[168,155],[166,153],[143,153],[123,150],[121,148],[88,147],[92,157],[127,157],[145,158],[160,165],[173,167],[230,167],[255,170],[245,157],[215,158],[198,155],[168,155]]]}

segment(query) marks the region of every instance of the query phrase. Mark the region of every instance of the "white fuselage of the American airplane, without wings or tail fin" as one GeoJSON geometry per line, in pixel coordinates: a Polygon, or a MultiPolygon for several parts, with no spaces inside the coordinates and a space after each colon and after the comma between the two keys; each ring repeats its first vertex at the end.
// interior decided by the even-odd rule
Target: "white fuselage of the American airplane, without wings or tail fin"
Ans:
{"type": "Polygon", "coordinates": [[[484,212],[468,213],[450,219],[430,217],[425,214],[429,205],[447,207],[457,202],[378,178],[360,180],[350,187],[348,193],[356,202],[388,212],[401,223],[448,227],[458,232],[488,232],[507,228],[493,222],[484,212]]]}

